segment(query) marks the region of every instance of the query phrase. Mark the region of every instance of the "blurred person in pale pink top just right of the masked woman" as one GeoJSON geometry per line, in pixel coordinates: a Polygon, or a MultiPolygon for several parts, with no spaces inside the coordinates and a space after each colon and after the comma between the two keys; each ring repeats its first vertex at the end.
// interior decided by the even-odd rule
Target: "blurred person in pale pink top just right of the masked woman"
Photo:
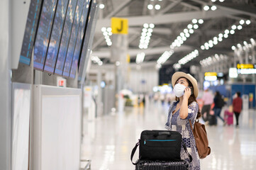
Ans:
{"type": "Polygon", "coordinates": [[[204,91],[202,101],[203,101],[203,108],[201,111],[203,115],[202,118],[204,119],[204,121],[206,122],[205,124],[207,125],[210,118],[211,104],[213,103],[213,95],[208,89],[204,91]],[[206,113],[206,117],[204,117],[204,113],[206,113]]]}

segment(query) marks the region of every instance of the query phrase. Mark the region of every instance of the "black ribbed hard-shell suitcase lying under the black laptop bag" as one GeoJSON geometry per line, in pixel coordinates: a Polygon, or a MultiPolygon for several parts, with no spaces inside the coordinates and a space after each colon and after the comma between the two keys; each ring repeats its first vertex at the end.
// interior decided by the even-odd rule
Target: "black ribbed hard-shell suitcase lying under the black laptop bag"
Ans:
{"type": "Polygon", "coordinates": [[[141,160],[136,164],[135,170],[188,170],[189,163],[184,160],[180,161],[144,161],[141,160]]]}

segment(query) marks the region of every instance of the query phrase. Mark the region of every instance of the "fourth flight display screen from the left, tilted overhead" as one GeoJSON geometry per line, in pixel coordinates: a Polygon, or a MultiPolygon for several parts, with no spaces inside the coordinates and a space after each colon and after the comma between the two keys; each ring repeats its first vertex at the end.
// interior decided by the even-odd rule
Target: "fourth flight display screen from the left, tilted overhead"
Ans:
{"type": "Polygon", "coordinates": [[[60,41],[60,49],[57,55],[57,62],[55,67],[55,74],[62,76],[63,66],[67,55],[67,45],[71,35],[72,23],[74,20],[74,12],[76,10],[77,0],[69,0],[67,7],[67,15],[65,18],[64,28],[62,31],[62,38],[60,41]]]}

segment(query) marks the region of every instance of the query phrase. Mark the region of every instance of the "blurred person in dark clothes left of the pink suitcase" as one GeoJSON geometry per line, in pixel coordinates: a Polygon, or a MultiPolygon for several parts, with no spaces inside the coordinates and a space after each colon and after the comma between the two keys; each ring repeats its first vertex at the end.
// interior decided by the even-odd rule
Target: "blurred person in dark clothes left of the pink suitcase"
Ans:
{"type": "Polygon", "coordinates": [[[217,123],[217,117],[218,117],[223,121],[224,125],[226,125],[225,120],[221,118],[221,109],[224,106],[224,100],[219,91],[215,92],[215,97],[213,101],[214,101],[213,111],[214,111],[214,115],[216,116],[216,123],[217,123]]]}

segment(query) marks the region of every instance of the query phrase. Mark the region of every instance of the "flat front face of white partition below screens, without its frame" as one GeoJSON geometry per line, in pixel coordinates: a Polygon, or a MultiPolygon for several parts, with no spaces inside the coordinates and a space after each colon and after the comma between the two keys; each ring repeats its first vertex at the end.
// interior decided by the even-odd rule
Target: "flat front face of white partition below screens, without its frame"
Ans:
{"type": "Polygon", "coordinates": [[[79,169],[79,96],[43,96],[42,170],[79,169]]]}

